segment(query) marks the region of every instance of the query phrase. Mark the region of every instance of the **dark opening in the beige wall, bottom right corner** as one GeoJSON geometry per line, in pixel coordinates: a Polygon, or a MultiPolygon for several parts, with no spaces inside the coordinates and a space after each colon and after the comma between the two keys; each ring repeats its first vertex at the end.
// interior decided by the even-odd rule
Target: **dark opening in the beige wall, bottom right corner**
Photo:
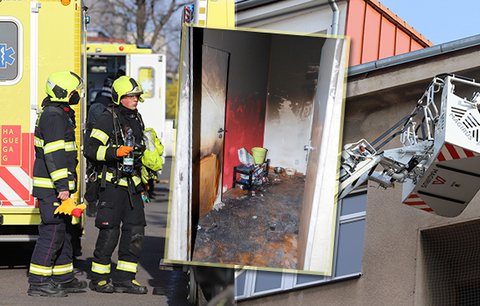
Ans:
{"type": "Polygon", "coordinates": [[[480,220],[421,231],[419,305],[478,305],[480,220]]]}

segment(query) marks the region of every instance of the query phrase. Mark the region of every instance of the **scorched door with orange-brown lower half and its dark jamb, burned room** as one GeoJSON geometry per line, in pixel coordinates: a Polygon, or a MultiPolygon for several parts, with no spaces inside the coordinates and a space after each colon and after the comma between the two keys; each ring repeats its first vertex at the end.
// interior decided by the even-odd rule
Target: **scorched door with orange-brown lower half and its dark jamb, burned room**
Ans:
{"type": "Polygon", "coordinates": [[[192,236],[195,244],[198,219],[221,203],[225,133],[225,104],[229,53],[195,37],[196,58],[192,105],[192,236]],[[200,51],[201,50],[201,51],[200,51]],[[200,56],[201,52],[201,56],[200,56]]]}

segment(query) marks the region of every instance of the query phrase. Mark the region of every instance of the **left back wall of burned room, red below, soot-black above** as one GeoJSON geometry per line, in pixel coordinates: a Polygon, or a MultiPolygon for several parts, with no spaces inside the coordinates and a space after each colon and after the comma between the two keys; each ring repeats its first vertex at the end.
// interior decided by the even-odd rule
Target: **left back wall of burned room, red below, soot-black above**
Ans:
{"type": "Polygon", "coordinates": [[[263,146],[270,35],[205,29],[204,44],[230,53],[222,183],[230,188],[238,149],[263,146]]]}

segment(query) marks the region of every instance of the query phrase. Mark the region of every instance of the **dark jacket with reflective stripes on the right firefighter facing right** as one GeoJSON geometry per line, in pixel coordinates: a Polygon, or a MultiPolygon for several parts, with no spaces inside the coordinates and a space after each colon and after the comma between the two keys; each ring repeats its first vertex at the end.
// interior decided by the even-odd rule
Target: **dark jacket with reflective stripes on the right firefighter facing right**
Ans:
{"type": "Polygon", "coordinates": [[[141,154],[144,151],[144,124],[137,110],[130,110],[122,105],[108,107],[95,121],[84,155],[95,165],[101,181],[130,187],[133,182],[135,190],[142,189],[140,179],[141,154]],[[122,157],[117,157],[118,147],[124,145],[126,130],[131,128],[135,137],[134,172],[126,175],[121,171],[122,157]],[[129,181],[131,179],[131,181],[129,181]]]}

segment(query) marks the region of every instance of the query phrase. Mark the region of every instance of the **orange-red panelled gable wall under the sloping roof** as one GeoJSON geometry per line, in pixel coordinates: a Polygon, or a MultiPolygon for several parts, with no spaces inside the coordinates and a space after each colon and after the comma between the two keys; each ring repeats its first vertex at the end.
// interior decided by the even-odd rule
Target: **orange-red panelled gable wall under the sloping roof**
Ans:
{"type": "Polygon", "coordinates": [[[350,0],[350,66],[426,48],[432,43],[376,0],[350,0]]]}

